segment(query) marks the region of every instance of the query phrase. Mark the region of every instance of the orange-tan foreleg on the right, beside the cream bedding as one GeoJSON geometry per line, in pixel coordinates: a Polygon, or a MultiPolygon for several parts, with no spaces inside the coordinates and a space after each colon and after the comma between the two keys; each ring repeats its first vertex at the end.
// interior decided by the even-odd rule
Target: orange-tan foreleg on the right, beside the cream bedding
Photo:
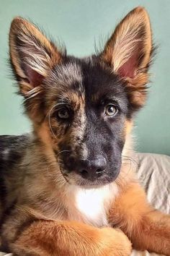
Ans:
{"type": "Polygon", "coordinates": [[[117,198],[109,220],[127,234],[133,248],[170,256],[170,216],[153,210],[138,184],[130,184],[117,198]]]}

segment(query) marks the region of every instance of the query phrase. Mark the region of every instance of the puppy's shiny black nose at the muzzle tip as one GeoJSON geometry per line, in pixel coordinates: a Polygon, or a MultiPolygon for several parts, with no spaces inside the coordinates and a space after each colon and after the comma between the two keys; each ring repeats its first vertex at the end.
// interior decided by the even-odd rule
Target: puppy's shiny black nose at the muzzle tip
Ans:
{"type": "Polygon", "coordinates": [[[107,161],[102,156],[91,160],[81,160],[78,172],[84,179],[94,180],[104,174],[106,165],[107,161]]]}

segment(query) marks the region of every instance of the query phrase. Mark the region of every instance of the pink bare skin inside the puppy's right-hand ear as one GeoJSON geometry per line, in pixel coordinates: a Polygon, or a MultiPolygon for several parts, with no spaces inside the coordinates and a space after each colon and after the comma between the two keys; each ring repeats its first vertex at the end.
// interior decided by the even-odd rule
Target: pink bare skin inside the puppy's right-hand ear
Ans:
{"type": "Polygon", "coordinates": [[[135,76],[135,70],[138,68],[138,56],[137,51],[125,62],[125,64],[118,69],[118,73],[121,77],[130,77],[135,76]]]}

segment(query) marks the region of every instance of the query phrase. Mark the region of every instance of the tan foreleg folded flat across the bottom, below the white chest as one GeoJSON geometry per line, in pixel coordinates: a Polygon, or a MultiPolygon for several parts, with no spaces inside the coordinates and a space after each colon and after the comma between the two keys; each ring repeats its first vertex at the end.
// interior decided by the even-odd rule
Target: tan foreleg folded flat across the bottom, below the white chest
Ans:
{"type": "Polygon", "coordinates": [[[9,249],[17,256],[128,256],[131,243],[120,229],[37,220],[17,232],[9,249]]]}

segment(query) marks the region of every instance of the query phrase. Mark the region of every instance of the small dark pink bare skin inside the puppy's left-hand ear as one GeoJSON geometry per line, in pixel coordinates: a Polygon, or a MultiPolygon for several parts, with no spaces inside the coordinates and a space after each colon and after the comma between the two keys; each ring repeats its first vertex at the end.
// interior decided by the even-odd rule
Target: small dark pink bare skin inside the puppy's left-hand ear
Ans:
{"type": "Polygon", "coordinates": [[[33,87],[36,87],[42,83],[42,80],[44,79],[42,74],[37,73],[33,69],[30,69],[30,67],[27,67],[25,72],[27,73],[27,78],[30,82],[30,85],[32,85],[33,87]]]}

